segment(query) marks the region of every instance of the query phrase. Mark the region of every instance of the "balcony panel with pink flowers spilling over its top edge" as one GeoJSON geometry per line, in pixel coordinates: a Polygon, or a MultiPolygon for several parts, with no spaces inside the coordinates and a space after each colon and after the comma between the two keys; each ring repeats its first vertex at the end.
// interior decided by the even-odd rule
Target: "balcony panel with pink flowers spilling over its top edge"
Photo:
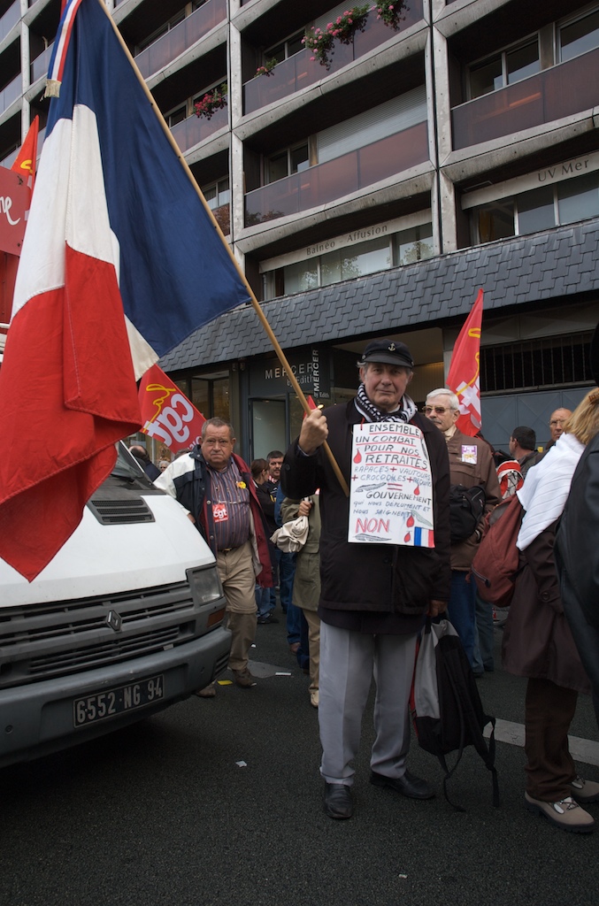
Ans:
{"type": "MultiPolygon", "coordinates": [[[[401,31],[408,28],[422,18],[422,0],[410,0],[410,8],[406,10],[405,21],[401,23],[401,31]]],[[[246,82],[244,85],[244,112],[253,113],[266,107],[273,101],[280,101],[290,94],[299,92],[300,89],[320,82],[325,76],[343,69],[348,63],[353,63],[364,53],[372,51],[375,47],[398,34],[376,18],[371,12],[366,20],[363,32],[353,35],[353,43],[342,44],[338,41],[334,45],[331,68],[326,70],[317,60],[310,59],[312,53],[303,50],[295,53],[282,63],[277,63],[270,75],[259,75],[246,82]]],[[[401,32],[399,33],[401,34],[401,32]]]]}

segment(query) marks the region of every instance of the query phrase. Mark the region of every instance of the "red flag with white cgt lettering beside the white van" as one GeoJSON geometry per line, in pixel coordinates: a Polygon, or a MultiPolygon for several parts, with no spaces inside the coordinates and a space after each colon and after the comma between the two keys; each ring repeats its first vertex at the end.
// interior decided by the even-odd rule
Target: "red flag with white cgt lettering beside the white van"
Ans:
{"type": "Polygon", "coordinates": [[[140,381],[140,410],[143,433],[173,453],[199,443],[206,419],[159,365],[152,365],[140,381]]]}

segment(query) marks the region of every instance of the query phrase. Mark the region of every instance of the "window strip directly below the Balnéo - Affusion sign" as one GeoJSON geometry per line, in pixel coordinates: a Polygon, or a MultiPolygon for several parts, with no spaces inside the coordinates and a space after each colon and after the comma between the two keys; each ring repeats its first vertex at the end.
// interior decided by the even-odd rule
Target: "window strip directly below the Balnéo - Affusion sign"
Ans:
{"type": "Polygon", "coordinates": [[[413,264],[433,254],[432,225],[414,226],[268,271],[265,274],[265,298],[305,293],[390,267],[413,264]]]}

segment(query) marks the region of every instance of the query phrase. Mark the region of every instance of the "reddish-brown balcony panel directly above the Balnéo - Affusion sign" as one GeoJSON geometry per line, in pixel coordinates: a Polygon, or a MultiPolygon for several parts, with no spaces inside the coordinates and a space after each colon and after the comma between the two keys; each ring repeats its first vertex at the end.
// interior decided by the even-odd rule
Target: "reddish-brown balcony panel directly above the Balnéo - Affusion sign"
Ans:
{"type": "Polygon", "coordinates": [[[429,159],[426,122],[246,195],[246,226],[287,217],[372,186],[429,159]]]}

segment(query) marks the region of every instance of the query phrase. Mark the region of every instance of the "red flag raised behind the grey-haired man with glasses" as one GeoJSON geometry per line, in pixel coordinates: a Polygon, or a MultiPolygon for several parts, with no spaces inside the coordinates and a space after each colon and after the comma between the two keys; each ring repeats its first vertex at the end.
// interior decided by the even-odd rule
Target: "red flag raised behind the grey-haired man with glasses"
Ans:
{"type": "Polygon", "coordinates": [[[480,418],[480,325],[482,323],[483,291],[478,290],[466,323],[453,347],[447,386],[459,399],[458,429],[475,437],[481,427],[480,418]]]}

